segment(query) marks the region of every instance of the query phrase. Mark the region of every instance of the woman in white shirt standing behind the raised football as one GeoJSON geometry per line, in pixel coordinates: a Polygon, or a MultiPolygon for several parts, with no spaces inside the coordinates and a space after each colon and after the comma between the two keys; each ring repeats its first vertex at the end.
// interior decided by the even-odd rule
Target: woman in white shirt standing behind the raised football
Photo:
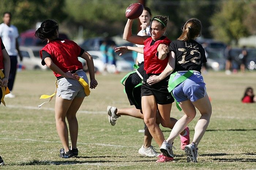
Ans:
{"type": "MultiPolygon", "coordinates": [[[[149,27],[150,27],[150,21],[151,21],[151,10],[148,7],[144,7],[142,14],[139,16],[140,20],[140,27],[141,30],[138,32],[137,35],[143,36],[143,35],[150,35],[149,27]]],[[[144,45],[136,44],[137,47],[144,47],[144,45]]],[[[143,65],[144,63],[144,55],[141,53],[137,54],[136,64],[138,66],[143,65]]]]}

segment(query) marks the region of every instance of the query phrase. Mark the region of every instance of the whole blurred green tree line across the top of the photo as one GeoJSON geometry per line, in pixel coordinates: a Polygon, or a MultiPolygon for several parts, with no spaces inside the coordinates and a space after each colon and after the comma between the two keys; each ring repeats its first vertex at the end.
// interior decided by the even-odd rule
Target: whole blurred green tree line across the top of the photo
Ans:
{"type": "MultiPolygon", "coordinates": [[[[12,24],[19,32],[35,27],[36,22],[55,19],[69,37],[77,38],[83,27],[83,38],[113,36],[123,33],[127,18],[125,9],[137,0],[1,0],[0,11],[13,14],[12,24]]],[[[188,18],[203,24],[204,38],[225,43],[256,34],[255,0],[146,0],[155,15],[169,16],[168,37],[176,39],[188,18]]],[[[136,22],[135,22],[136,23],[136,22]]],[[[134,25],[136,30],[138,26],[134,25]]],[[[135,34],[136,32],[134,32],[135,34]]]]}

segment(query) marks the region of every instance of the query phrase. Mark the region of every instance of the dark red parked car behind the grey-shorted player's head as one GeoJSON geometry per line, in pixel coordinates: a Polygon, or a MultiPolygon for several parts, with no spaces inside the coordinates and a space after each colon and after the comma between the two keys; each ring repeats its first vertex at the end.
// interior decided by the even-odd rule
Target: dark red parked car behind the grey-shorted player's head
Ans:
{"type": "MultiPolygon", "coordinates": [[[[43,41],[35,37],[35,29],[27,30],[20,33],[19,45],[20,46],[45,46],[46,41],[43,41]]],[[[59,33],[59,38],[68,39],[68,36],[63,33],[59,33]]]]}

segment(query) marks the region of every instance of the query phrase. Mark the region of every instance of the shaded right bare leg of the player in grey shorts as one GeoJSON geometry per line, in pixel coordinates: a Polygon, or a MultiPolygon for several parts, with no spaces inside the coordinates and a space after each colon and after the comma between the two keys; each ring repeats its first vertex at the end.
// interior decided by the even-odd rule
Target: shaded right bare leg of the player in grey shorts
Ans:
{"type": "Polygon", "coordinates": [[[76,149],[76,142],[78,138],[78,121],[76,119],[76,112],[83,103],[84,97],[76,97],[72,101],[68,111],[67,111],[67,120],[69,125],[69,134],[71,139],[71,149],[76,149]]]}

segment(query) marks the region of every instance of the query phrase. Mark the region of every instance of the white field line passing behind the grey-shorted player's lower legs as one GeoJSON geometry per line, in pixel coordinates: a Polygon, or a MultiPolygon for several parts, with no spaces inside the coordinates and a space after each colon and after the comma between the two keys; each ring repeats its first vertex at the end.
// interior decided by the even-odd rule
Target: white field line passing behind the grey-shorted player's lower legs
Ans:
{"type": "MultiPolygon", "coordinates": [[[[18,138],[0,138],[1,140],[21,140],[21,141],[31,141],[31,142],[42,142],[42,143],[61,143],[60,141],[49,141],[49,140],[37,140],[37,139],[18,139],[18,138]]],[[[84,145],[99,145],[99,146],[109,146],[109,147],[134,147],[134,146],[122,146],[114,144],[105,144],[105,143],[83,143],[78,142],[78,144],[84,145]]]]}

